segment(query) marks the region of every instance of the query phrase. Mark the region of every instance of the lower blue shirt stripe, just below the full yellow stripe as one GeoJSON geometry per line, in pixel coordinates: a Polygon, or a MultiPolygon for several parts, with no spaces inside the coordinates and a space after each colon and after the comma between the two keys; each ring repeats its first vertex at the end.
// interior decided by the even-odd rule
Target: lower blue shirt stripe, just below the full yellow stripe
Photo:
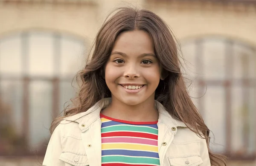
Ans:
{"type": "Polygon", "coordinates": [[[151,158],[159,158],[156,152],[143,152],[134,150],[102,150],[102,156],[105,155],[127,155],[127,156],[145,156],[151,158]]]}

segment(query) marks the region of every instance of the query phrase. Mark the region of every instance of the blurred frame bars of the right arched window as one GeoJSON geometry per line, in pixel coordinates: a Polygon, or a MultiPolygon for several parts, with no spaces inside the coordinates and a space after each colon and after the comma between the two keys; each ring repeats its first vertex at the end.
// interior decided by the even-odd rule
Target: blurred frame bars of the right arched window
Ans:
{"type": "MultiPolygon", "coordinates": [[[[253,55],[256,56],[256,48],[248,45],[244,42],[240,42],[234,39],[229,39],[225,37],[198,37],[195,39],[189,39],[188,41],[185,41],[181,43],[181,45],[186,45],[186,43],[194,43],[195,44],[195,68],[196,68],[196,73],[204,73],[204,68],[201,62],[199,62],[197,59],[202,58],[204,56],[203,54],[203,43],[207,40],[220,40],[224,41],[225,45],[225,78],[224,79],[206,79],[204,77],[199,77],[194,80],[195,85],[198,86],[198,94],[204,94],[206,93],[206,87],[223,87],[224,88],[224,93],[225,93],[225,101],[224,101],[224,110],[225,110],[225,119],[226,119],[226,125],[225,125],[225,142],[226,142],[226,147],[225,147],[225,152],[224,155],[226,155],[229,160],[255,160],[256,159],[256,148],[254,149],[254,154],[252,155],[237,155],[233,154],[232,148],[231,148],[231,137],[232,137],[232,119],[231,119],[231,105],[232,105],[232,86],[241,86],[243,89],[243,96],[246,96],[246,90],[245,88],[247,87],[253,87],[256,90],[256,78],[250,79],[250,78],[241,78],[241,79],[233,79],[232,77],[229,77],[228,75],[232,73],[233,70],[233,64],[230,62],[233,62],[233,47],[234,45],[241,45],[248,50],[251,50],[253,55]],[[224,39],[224,40],[223,40],[224,39]]],[[[182,48],[182,46],[181,46],[182,48]]],[[[256,62],[255,62],[256,63],[256,62]]],[[[254,101],[256,103],[256,97],[254,97],[254,101]]],[[[198,98],[198,110],[200,111],[201,115],[204,117],[204,114],[206,113],[206,110],[204,109],[204,98],[200,96],[198,98]]],[[[256,118],[256,114],[254,115],[256,118]]],[[[254,123],[254,128],[256,128],[256,123],[254,123]]],[[[244,135],[244,139],[247,141],[244,141],[243,144],[248,143],[249,136],[244,135]]],[[[254,144],[256,144],[256,131],[254,133],[254,144]]],[[[247,145],[248,146],[248,145],[247,145]]]]}

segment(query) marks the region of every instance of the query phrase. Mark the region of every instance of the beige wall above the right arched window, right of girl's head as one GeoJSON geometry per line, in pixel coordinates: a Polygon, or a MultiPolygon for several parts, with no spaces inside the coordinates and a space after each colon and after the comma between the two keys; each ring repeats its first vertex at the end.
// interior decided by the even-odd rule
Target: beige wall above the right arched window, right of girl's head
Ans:
{"type": "Polygon", "coordinates": [[[256,47],[256,5],[165,1],[148,8],[160,14],[180,40],[223,35],[256,47]]]}

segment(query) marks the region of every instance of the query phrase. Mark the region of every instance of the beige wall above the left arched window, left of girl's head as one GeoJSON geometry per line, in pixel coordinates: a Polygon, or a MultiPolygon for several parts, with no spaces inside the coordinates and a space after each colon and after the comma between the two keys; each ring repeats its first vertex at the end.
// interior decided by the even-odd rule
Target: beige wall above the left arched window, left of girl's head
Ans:
{"type": "MultiPolygon", "coordinates": [[[[143,2],[140,1],[140,2],[143,2]]],[[[136,1],[94,0],[82,5],[0,3],[0,36],[29,29],[53,30],[70,33],[92,42],[106,16],[116,6],[134,5],[136,1]]]]}

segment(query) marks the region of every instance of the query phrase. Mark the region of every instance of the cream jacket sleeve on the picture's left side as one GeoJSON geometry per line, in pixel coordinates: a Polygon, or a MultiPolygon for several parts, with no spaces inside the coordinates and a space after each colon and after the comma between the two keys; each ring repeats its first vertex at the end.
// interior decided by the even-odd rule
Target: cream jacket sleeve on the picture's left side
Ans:
{"type": "Polygon", "coordinates": [[[59,160],[61,152],[61,125],[59,124],[52,133],[48,143],[43,166],[65,166],[64,161],[59,160]]]}

